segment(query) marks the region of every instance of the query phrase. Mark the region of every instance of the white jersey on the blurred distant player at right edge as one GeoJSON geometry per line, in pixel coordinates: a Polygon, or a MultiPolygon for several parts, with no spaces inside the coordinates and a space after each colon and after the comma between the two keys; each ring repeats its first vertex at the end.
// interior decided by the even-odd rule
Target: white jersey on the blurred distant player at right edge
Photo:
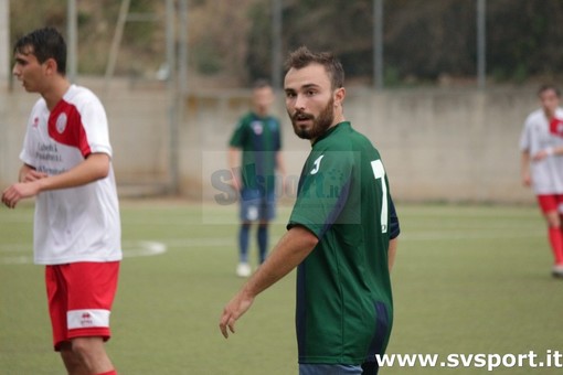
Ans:
{"type": "MultiPolygon", "coordinates": [[[[555,111],[556,119],[563,119],[563,109],[555,111]]],[[[563,132],[550,125],[542,109],[531,113],[524,122],[520,137],[520,150],[534,156],[541,150],[563,147],[563,132]]],[[[537,195],[563,194],[563,156],[551,154],[540,161],[531,162],[532,185],[537,195]]]]}

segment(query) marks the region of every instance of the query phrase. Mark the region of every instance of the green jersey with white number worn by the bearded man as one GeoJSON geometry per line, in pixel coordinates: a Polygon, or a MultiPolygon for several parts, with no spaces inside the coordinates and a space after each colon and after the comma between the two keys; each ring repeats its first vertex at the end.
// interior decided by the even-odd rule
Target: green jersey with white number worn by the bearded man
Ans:
{"type": "Polygon", "coordinates": [[[288,228],[319,243],[297,269],[299,363],[360,364],[385,351],[393,320],[387,179],[350,122],[312,146],[288,228]]]}

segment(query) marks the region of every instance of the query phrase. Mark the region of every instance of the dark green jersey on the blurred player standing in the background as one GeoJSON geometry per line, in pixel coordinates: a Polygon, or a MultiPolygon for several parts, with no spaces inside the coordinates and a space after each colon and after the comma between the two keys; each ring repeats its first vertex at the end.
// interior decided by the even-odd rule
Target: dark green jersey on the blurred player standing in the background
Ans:
{"type": "Polygon", "coordinates": [[[272,116],[262,118],[249,113],[238,121],[229,144],[243,152],[243,188],[274,192],[276,153],[282,148],[279,121],[272,116]]]}

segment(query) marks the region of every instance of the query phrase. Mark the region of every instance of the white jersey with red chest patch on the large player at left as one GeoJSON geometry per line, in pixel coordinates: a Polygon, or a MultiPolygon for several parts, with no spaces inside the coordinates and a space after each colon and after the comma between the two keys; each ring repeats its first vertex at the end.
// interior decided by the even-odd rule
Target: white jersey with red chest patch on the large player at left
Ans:
{"type": "MultiPolygon", "coordinates": [[[[72,85],[52,111],[43,98],[31,111],[20,159],[49,175],[79,164],[91,153],[111,157],[99,99],[72,85]]],[[[41,265],[121,259],[121,227],[114,170],[83,186],[40,193],[35,201],[34,260],[41,265]]]]}

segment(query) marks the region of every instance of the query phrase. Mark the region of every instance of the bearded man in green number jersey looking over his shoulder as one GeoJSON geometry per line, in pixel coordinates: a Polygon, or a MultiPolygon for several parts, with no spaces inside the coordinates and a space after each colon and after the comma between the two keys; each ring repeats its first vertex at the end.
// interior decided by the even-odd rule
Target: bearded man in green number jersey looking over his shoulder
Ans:
{"type": "Polygon", "coordinates": [[[391,334],[399,219],[379,151],[344,119],[344,73],[330,53],[294,51],[284,89],[311,142],[287,233],[227,303],[225,338],[263,290],[297,267],[300,375],[376,374],[391,334]]]}

